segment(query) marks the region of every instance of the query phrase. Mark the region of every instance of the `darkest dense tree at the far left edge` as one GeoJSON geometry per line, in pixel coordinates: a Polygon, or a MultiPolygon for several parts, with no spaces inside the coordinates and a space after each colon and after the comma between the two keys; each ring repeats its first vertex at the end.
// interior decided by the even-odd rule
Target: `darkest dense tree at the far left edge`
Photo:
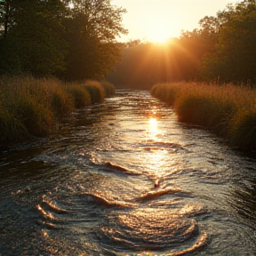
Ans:
{"type": "Polygon", "coordinates": [[[65,68],[66,44],[59,0],[6,0],[1,10],[2,73],[58,74],[65,68]],[[4,23],[4,26],[3,26],[4,23]]]}

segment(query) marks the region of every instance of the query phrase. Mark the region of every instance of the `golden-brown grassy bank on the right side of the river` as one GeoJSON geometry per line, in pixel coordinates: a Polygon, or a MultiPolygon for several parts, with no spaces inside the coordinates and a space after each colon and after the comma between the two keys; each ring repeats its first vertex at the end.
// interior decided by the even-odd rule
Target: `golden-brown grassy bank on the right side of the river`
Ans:
{"type": "Polygon", "coordinates": [[[233,84],[156,84],[151,95],[164,100],[180,122],[198,124],[244,150],[256,149],[256,90],[233,84]]]}

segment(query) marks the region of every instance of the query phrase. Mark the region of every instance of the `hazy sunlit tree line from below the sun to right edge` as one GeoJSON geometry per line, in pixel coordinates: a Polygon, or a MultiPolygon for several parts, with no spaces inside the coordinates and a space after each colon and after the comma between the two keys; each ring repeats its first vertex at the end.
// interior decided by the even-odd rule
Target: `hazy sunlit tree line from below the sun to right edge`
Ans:
{"type": "MultiPolygon", "coordinates": [[[[172,24],[170,24],[170,27],[172,24]]],[[[159,28],[160,29],[160,28],[159,28]]],[[[165,45],[134,40],[109,81],[149,88],[158,82],[256,83],[256,0],[228,4],[199,28],[165,45]]]]}

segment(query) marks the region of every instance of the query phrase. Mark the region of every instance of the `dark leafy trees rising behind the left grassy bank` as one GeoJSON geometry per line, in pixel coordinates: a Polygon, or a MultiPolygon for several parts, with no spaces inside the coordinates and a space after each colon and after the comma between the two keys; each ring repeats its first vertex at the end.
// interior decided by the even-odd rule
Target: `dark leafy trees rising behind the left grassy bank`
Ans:
{"type": "Polygon", "coordinates": [[[0,75],[106,76],[121,57],[124,12],[110,0],[1,0],[0,75]]]}

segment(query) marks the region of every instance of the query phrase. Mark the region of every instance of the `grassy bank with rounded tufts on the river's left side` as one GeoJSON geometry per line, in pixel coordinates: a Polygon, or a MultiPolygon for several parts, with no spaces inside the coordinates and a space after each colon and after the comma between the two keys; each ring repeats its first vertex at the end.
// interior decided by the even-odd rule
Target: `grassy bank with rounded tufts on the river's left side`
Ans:
{"type": "Polygon", "coordinates": [[[0,78],[0,143],[49,134],[63,117],[115,92],[113,84],[94,80],[61,83],[32,76],[0,78]]]}

